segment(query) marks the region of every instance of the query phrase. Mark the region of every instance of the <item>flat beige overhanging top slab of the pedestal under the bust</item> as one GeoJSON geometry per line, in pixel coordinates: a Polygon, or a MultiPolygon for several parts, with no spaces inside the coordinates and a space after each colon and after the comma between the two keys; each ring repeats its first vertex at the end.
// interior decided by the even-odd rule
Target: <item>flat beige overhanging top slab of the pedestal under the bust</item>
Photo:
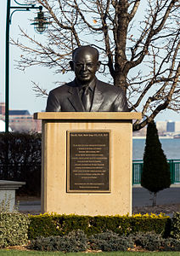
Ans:
{"type": "Polygon", "coordinates": [[[142,119],[140,112],[39,112],[34,119],[142,119]]]}

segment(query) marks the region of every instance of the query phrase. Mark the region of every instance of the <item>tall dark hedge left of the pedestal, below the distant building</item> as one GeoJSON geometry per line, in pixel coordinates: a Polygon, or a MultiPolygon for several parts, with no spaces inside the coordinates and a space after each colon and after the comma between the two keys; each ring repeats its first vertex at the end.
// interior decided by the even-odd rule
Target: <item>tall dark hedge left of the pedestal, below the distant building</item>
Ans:
{"type": "Polygon", "coordinates": [[[41,146],[40,133],[0,132],[0,179],[25,182],[18,194],[41,194],[41,146]]]}

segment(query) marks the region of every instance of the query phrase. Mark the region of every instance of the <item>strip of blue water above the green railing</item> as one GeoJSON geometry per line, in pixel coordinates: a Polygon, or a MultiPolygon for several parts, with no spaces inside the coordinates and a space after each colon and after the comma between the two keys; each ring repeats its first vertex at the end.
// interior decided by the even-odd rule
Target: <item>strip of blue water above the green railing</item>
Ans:
{"type": "MultiPolygon", "coordinates": [[[[171,139],[163,138],[160,139],[162,149],[166,154],[168,160],[180,159],[180,138],[171,139]]],[[[132,159],[133,160],[143,160],[143,152],[145,146],[145,139],[136,139],[132,140],[132,159]]]]}

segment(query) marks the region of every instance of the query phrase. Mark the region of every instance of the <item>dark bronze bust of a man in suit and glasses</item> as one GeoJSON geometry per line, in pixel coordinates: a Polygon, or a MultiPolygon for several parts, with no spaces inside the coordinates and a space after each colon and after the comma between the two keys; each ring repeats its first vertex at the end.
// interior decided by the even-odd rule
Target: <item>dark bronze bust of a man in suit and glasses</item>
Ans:
{"type": "Polygon", "coordinates": [[[124,91],[99,81],[98,50],[91,46],[76,48],[70,61],[74,81],[50,91],[47,112],[121,112],[128,111],[124,91]]]}

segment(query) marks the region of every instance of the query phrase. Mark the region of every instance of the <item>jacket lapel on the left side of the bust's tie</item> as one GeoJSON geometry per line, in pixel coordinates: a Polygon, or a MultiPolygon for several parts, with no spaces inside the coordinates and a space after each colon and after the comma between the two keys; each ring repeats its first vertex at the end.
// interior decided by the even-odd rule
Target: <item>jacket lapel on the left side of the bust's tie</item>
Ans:
{"type": "Polygon", "coordinates": [[[70,95],[68,96],[68,100],[70,101],[71,105],[73,106],[73,108],[75,108],[76,111],[82,112],[82,102],[79,98],[78,87],[76,86],[74,81],[72,82],[72,84],[70,84],[70,88],[68,91],[70,93],[70,95]]]}

